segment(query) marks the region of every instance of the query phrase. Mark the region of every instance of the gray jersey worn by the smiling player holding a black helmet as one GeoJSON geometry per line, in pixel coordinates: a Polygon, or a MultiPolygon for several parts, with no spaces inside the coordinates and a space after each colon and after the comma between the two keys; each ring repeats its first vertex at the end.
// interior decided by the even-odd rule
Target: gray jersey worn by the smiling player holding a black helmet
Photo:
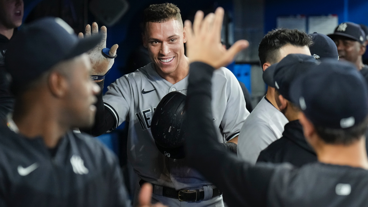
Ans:
{"type": "MultiPolygon", "coordinates": [[[[103,96],[106,108],[117,120],[115,128],[124,121],[129,122],[127,151],[134,171],[141,179],[177,190],[210,183],[188,168],[185,159],[171,159],[158,151],[151,135],[151,119],[166,94],[187,86],[188,76],[173,85],[156,73],[154,63],[149,63],[117,79],[103,96]]],[[[213,74],[212,99],[217,139],[225,143],[238,136],[249,112],[236,77],[224,67],[213,74]]]]}

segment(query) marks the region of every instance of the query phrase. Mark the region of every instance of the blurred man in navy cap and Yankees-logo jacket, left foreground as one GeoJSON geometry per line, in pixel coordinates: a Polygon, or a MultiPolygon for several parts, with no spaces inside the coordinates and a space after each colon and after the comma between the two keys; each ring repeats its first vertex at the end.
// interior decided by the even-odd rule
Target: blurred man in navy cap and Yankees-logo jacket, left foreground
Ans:
{"type": "MultiPolygon", "coordinates": [[[[84,53],[101,40],[78,40],[60,18],[44,18],[10,41],[16,101],[10,129],[0,128],[0,206],[130,207],[113,152],[71,130],[93,124],[100,89],[84,53]]],[[[142,189],[148,206],[152,187],[142,189]]]]}

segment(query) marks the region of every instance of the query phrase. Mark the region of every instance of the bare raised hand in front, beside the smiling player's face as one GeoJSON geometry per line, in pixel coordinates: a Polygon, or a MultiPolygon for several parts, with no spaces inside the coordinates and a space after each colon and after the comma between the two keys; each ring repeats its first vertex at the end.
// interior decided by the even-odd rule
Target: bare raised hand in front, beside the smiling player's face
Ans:
{"type": "Polygon", "coordinates": [[[215,14],[210,13],[204,19],[204,13],[197,11],[193,29],[189,20],[185,21],[187,31],[187,56],[190,62],[204,62],[218,69],[226,66],[234,56],[249,46],[248,41],[239,40],[226,50],[221,44],[221,28],[224,9],[219,7],[215,14]]]}

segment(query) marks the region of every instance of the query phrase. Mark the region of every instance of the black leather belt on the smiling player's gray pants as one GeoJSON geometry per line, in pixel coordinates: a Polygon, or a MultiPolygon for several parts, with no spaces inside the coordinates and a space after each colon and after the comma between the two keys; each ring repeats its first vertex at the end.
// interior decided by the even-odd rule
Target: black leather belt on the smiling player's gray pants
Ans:
{"type": "MultiPolygon", "coordinates": [[[[139,181],[139,186],[142,186],[146,181],[139,181]]],[[[153,184],[152,184],[153,185],[153,184]]],[[[155,185],[153,185],[155,187],[155,185]]],[[[179,199],[180,201],[199,201],[205,198],[205,190],[176,190],[171,187],[162,186],[162,195],[165,197],[179,199]]],[[[221,195],[222,192],[217,187],[212,187],[212,198],[221,195]]]]}

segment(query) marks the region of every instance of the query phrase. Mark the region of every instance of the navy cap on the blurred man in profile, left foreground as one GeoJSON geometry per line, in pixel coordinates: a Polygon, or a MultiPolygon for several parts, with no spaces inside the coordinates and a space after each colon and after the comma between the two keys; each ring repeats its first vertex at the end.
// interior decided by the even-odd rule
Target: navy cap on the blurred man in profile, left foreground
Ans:
{"type": "Polygon", "coordinates": [[[79,39],[60,18],[47,17],[24,25],[6,51],[5,67],[13,78],[11,91],[20,93],[57,63],[93,49],[101,40],[102,35],[79,39]]]}

